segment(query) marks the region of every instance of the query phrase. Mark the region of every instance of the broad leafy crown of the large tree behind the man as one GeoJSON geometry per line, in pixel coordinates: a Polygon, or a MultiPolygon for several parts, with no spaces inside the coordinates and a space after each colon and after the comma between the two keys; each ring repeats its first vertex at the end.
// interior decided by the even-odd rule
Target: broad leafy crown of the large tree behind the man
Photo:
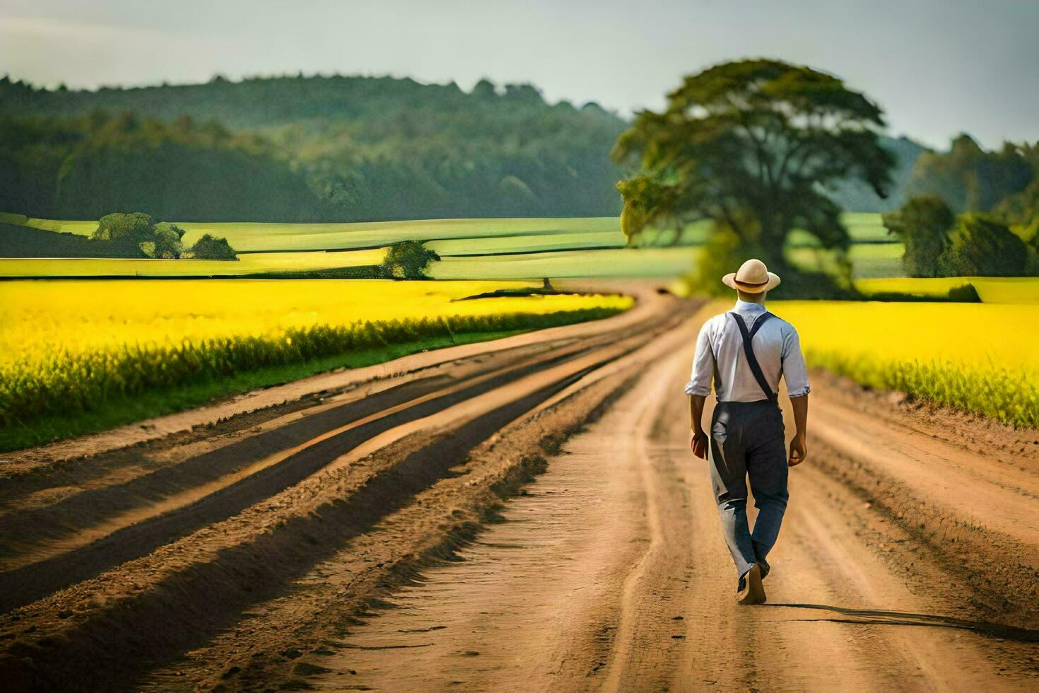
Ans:
{"type": "Polygon", "coordinates": [[[779,60],[741,60],[687,77],[660,112],[638,113],[613,157],[640,170],[617,184],[629,239],[710,219],[784,268],[803,229],[844,255],[848,232],[824,191],[858,179],[883,196],[894,158],[880,108],[832,75],[779,60]]]}

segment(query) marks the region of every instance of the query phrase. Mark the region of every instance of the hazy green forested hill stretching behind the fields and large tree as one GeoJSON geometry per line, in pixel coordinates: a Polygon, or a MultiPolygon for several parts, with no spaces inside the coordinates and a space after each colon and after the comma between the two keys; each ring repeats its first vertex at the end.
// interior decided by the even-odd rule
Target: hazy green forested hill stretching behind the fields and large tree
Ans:
{"type": "MultiPolygon", "coordinates": [[[[357,221],[609,216],[627,123],[527,84],[275,77],[97,91],[0,79],[0,211],[357,221]]],[[[920,148],[890,140],[905,175],[920,148]]],[[[897,195],[897,193],[896,193],[897,195]]],[[[889,204],[861,186],[847,209],[889,204]]]]}

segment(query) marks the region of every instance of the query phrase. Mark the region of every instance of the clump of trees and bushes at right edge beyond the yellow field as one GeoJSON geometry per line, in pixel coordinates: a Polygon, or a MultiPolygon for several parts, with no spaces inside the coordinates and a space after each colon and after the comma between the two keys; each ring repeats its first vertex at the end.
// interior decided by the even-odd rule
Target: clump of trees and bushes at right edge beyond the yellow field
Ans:
{"type": "Polygon", "coordinates": [[[1039,143],[987,152],[961,135],[920,157],[907,193],[883,218],[910,276],[1039,274],[1039,143]]]}

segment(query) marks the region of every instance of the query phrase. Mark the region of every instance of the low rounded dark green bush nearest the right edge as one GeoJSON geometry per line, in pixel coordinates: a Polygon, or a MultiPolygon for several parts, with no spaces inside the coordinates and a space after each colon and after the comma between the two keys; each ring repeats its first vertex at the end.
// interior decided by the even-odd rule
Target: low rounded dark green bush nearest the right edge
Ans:
{"type": "Polygon", "coordinates": [[[948,276],[1019,276],[1028,262],[1024,241],[1005,224],[979,214],[961,214],[940,267],[948,276]]]}

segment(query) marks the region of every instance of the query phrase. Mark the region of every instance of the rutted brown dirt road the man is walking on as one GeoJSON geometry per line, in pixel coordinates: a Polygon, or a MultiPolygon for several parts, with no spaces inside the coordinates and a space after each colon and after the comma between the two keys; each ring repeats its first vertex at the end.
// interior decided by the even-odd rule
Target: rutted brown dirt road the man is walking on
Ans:
{"type": "Polygon", "coordinates": [[[816,374],[769,604],[737,607],[687,447],[695,309],[644,293],[594,325],[15,456],[0,677],[1035,690],[1039,436],[816,374]]]}

